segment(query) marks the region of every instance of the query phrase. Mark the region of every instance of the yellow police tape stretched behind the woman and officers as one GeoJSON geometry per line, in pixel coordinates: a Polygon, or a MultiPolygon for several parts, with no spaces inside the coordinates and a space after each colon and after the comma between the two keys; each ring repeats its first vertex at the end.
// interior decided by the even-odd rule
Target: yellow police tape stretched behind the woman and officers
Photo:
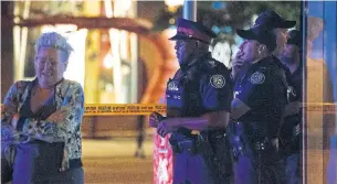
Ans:
{"type": "MultiPolygon", "coordinates": [[[[2,106],[2,105],[1,105],[2,106]]],[[[323,113],[337,113],[337,104],[307,102],[302,104],[306,112],[320,111],[323,113]]],[[[128,116],[150,115],[154,111],[166,113],[166,105],[161,104],[86,104],[85,116],[128,116]]]]}

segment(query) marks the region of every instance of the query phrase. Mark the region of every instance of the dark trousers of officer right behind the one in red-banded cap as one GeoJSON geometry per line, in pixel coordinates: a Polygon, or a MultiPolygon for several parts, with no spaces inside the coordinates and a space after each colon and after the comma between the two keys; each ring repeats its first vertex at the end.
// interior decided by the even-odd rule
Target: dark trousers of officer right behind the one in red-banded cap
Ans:
{"type": "Polygon", "coordinates": [[[285,184],[282,160],[263,161],[257,158],[240,155],[234,163],[235,184],[285,184]]]}

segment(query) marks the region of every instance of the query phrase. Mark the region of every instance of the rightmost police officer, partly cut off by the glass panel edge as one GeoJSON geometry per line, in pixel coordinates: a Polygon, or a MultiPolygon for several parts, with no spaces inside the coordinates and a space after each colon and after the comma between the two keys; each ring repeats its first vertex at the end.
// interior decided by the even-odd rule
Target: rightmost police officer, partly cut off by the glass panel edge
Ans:
{"type": "Polygon", "coordinates": [[[292,73],[293,87],[289,104],[285,108],[284,122],[281,131],[282,152],[285,160],[287,184],[301,183],[299,148],[301,148],[301,122],[302,122],[302,34],[297,30],[288,33],[289,39],[284,50],[282,63],[292,73]]]}

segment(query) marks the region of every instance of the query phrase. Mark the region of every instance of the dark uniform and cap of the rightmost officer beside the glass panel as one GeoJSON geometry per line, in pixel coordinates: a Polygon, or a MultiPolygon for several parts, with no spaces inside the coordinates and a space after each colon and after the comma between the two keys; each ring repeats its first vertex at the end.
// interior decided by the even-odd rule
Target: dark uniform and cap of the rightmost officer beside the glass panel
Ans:
{"type": "MultiPolygon", "coordinates": [[[[302,48],[302,34],[297,30],[292,30],[289,32],[289,39],[287,44],[294,44],[302,48]]],[[[284,58],[291,59],[291,58],[284,58]]],[[[299,61],[301,62],[301,61],[299,61]]],[[[301,65],[301,63],[299,63],[301,65]]],[[[292,75],[291,75],[291,95],[289,102],[293,101],[302,101],[302,67],[299,66],[292,75]]],[[[282,153],[285,161],[285,173],[287,184],[299,184],[301,183],[301,122],[302,122],[302,110],[299,110],[296,115],[291,115],[284,117],[284,122],[281,131],[281,140],[282,140],[282,153]]]]}

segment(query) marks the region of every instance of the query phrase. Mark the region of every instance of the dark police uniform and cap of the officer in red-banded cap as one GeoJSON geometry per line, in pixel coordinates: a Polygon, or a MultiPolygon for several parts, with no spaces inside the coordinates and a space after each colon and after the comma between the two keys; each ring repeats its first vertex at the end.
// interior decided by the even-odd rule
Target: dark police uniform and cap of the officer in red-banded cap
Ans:
{"type": "MultiPolygon", "coordinates": [[[[185,36],[193,39],[194,31],[202,31],[196,24],[178,20],[179,36],[172,40],[185,36]]],[[[166,97],[167,118],[201,117],[212,111],[230,111],[230,72],[222,63],[214,61],[210,53],[200,58],[191,58],[186,67],[169,79],[166,97]]],[[[180,128],[171,133],[170,144],[175,152],[173,184],[229,183],[232,167],[224,130],[207,130],[197,136],[191,134],[191,130],[180,128]]]]}

